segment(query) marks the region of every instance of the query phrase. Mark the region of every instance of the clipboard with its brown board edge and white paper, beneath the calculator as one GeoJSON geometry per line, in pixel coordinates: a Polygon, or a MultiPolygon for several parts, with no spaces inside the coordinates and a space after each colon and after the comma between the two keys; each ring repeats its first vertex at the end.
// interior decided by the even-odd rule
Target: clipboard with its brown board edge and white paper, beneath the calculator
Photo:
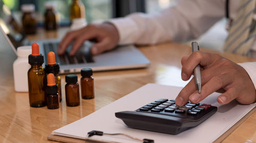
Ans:
{"type": "MultiPolygon", "coordinates": [[[[155,99],[155,95],[159,95],[159,91],[161,91],[161,95],[164,98],[172,98],[170,96],[174,96],[178,94],[181,88],[179,87],[170,87],[166,85],[159,85],[159,84],[146,84],[140,89],[118,99],[117,101],[102,107],[101,109],[97,110],[96,112],[92,113],[91,115],[82,118],[74,123],[71,123],[67,126],[64,126],[62,128],[59,128],[57,130],[53,131],[53,134],[67,134],[72,137],[79,137],[79,138],[85,138],[87,132],[91,130],[102,130],[105,132],[122,132],[122,133],[127,133],[133,136],[138,136],[140,138],[146,137],[146,138],[151,138],[155,139],[156,142],[161,142],[161,140],[189,140],[188,136],[194,136],[194,134],[201,133],[203,130],[212,127],[212,126],[221,126],[221,128],[215,128],[215,135],[210,136],[211,139],[208,139],[207,134],[202,140],[205,140],[207,142],[220,142],[223,139],[225,139],[230,133],[232,133],[238,126],[240,126],[255,110],[254,105],[240,105],[237,104],[237,102],[233,102],[231,104],[222,106],[219,108],[220,111],[218,114],[214,117],[209,118],[206,120],[202,125],[193,128],[191,131],[188,130],[187,132],[178,134],[178,135],[168,135],[168,134],[163,134],[163,133],[155,133],[151,131],[143,131],[143,130],[138,130],[138,129],[132,129],[132,128],[126,128],[122,127],[123,123],[122,121],[119,121],[118,119],[115,118],[115,116],[108,116],[108,118],[104,118],[104,121],[106,121],[108,124],[104,124],[105,122],[100,123],[100,119],[102,115],[106,117],[105,115],[114,115],[116,111],[120,110],[131,110],[131,109],[136,109],[141,106],[141,104],[146,104],[151,102],[153,99],[155,99]],[[169,93],[172,93],[170,95],[169,93]],[[146,98],[144,98],[146,97],[146,98]],[[144,99],[144,100],[139,100],[139,99],[144,99]],[[129,106],[131,101],[138,101],[134,102],[132,106],[129,106]],[[126,105],[127,103],[127,105],[126,105]],[[129,104],[129,105],[128,105],[129,104]],[[231,105],[231,106],[230,106],[231,105]],[[118,107],[118,108],[113,108],[113,107],[118,107]],[[226,110],[228,109],[228,110],[226,110]],[[228,114],[226,114],[226,111],[228,111],[228,114]],[[239,112],[239,114],[234,113],[239,112]],[[231,119],[231,120],[230,120],[231,119]],[[89,123],[88,121],[94,120],[97,123],[96,125],[92,124],[84,124],[84,123],[89,123]],[[227,124],[228,123],[228,124],[227,124]],[[67,130],[68,129],[68,130],[67,130]],[[74,130],[75,129],[75,130],[74,130]],[[83,132],[83,129],[85,130],[83,132]],[[223,129],[225,129],[223,131],[223,129]],[[219,130],[222,130],[221,132],[219,130]],[[187,137],[184,138],[183,136],[186,135],[187,137]],[[164,137],[164,138],[163,138],[164,137]]],[[[205,101],[202,101],[204,103],[211,103],[217,105],[216,103],[216,98],[218,97],[219,94],[215,93],[209,96],[205,101]]],[[[218,105],[217,105],[218,106],[218,105]]],[[[220,106],[220,105],[219,105],[220,106]]],[[[219,110],[218,109],[218,110],[219,110]]],[[[70,138],[70,137],[63,137],[59,135],[53,135],[50,134],[48,136],[48,139],[50,140],[55,140],[55,141],[61,141],[61,142],[86,142],[83,139],[77,139],[77,138],[70,138]]],[[[212,135],[212,134],[208,134],[212,135]]],[[[104,138],[104,136],[103,136],[104,138]]],[[[117,139],[118,140],[118,139],[117,139]]],[[[204,141],[204,142],[205,142],[204,141]]],[[[126,141],[127,142],[127,141],[126,141]]]]}

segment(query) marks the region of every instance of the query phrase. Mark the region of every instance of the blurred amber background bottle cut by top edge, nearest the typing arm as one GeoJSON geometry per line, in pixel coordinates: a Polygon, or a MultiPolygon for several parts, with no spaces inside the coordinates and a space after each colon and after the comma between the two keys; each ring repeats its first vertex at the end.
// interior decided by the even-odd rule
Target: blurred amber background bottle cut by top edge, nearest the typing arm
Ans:
{"type": "Polygon", "coordinates": [[[70,7],[71,21],[75,18],[86,18],[86,10],[80,0],[73,0],[73,3],[70,7]]]}

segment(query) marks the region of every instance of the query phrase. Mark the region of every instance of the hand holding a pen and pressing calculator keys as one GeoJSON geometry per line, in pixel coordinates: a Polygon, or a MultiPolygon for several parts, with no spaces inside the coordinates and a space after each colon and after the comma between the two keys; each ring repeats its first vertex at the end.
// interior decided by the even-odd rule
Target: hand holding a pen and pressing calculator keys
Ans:
{"type": "Polygon", "coordinates": [[[254,85],[245,69],[222,56],[201,51],[193,52],[181,60],[182,80],[188,80],[194,68],[201,65],[202,88],[198,93],[195,79],[191,79],[176,98],[176,104],[182,106],[189,100],[198,103],[213,92],[222,93],[218,97],[220,104],[227,104],[236,99],[242,104],[255,102],[254,85]]]}

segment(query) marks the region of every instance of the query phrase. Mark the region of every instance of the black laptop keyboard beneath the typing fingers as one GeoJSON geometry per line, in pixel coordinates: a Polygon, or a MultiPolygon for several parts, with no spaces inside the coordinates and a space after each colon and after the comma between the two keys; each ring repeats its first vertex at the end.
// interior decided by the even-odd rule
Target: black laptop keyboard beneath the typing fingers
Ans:
{"type": "MultiPolygon", "coordinates": [[[[44,43],[44,50],[45,53],[48,54],[48,52],[53,51],[54,53],[57,52],[59,43],[44,43]]],[[[70,49],[71,47],[68,47],[70,49]]],[[[78,50],[77,53],[74,56],[69,55],[69,50],[67,50],[63,55],[56,54],[56,62],[60,65],[69,65],[69,64],[83,64],[83,63],[93,63],[93,58],[90,50],[87,52],[82,52],[81,50],[78,50]]],[[[46,63],[48,63],[48,59],[46,58],[46,63]]]]}

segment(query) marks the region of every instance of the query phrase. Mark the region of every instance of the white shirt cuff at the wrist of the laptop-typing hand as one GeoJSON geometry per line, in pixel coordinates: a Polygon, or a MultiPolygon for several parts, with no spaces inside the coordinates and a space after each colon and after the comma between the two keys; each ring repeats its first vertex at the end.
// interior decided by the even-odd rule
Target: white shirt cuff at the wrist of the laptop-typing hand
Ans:
{"type": "Polygon", "coordinates": [[[119,45],[131,44],[135,42],[138,26],[133,19],[129,17],[122,17],[110,19],[107,22],[110,22],[116,26],[119,34],[119,45]]]}

